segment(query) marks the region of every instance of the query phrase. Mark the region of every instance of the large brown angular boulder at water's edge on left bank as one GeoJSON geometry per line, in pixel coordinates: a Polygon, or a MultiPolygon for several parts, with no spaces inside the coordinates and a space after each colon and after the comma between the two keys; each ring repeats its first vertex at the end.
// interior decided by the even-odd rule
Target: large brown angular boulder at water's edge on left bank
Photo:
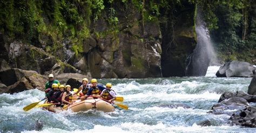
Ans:
{"type": "Polygon", "coordinates": [[[16,93],[23,90],[37,88],[44,90],[46,78],[36,71],[25,71],[18,68],[8,69],[0,72],[1,82],[8,86],[4,93],[16,93]]]}

